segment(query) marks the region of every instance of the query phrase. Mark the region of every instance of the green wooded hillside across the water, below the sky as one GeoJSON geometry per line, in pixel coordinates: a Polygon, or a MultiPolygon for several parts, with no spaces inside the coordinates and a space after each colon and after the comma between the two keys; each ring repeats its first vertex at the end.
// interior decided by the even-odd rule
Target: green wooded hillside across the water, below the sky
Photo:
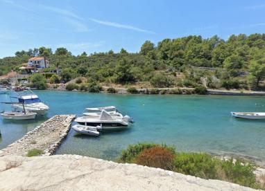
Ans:
{"type": "MultiPolygon", "coordinates": [[[[38,55],[49,60],[51,69],[62,69],[58,77],[65,83],[83,77],[105,86],[195,88],[206,82],[211,89],[261,90],[265,86],[264,52],[265,34],[231,35],[228,40],[188,36],[163,39],[157,45],[146,41],[139,53],[128,53],[123,48],[119,53],[84,52],[77,56],[66,48],[57,48],[54,53],[45,47],[17,51],[15,57],[0,59],[0,71],[18,71],[29,57],[38,55]]],[[[58,82],[55,76],[46,78],[58,82]]]]}

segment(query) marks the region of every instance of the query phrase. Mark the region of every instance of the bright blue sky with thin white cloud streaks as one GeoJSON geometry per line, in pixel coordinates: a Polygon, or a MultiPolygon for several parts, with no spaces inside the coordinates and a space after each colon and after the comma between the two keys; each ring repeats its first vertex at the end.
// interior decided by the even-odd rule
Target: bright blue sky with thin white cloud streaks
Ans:
{"type": "Polygon", "coordinates": [[[135,53],[146,40],[264,31],[261,0],[0,0],[0,57],[40,46],[135,53]]]}

